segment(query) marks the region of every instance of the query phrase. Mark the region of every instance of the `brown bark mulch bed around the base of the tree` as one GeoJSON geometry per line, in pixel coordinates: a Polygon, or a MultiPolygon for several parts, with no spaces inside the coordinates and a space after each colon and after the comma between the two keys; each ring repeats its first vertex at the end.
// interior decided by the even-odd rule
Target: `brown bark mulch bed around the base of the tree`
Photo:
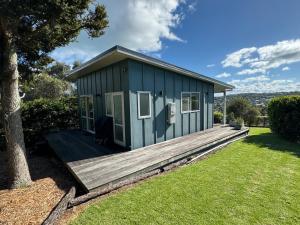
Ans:
{"type": "Polygon", "coordinates": [[[5,153],[0,151],[0,225],[41,224],[75,181],[54,157],[31,156],[29,187],[7,187],[5,153]]]}

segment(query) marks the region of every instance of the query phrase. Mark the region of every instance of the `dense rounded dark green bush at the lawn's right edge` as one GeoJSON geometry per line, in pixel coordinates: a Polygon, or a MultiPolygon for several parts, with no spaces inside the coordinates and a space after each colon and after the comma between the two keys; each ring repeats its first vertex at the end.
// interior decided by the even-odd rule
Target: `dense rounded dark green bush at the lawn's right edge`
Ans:
{"type": "Polygon", "coordinates": [[[268,105],[272,132],[292,141],[300,141],[300,96],[273,98],[268,105]]]}

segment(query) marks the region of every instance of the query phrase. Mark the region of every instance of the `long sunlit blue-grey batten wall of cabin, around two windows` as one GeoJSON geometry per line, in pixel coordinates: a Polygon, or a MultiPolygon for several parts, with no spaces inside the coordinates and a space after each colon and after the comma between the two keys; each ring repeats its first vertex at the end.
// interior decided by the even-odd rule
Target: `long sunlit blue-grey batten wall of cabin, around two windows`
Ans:
{"type": "Polygon", "coordinates": [[[213,127],[214,86],[145,63],[128,60],[131,148],[155,144],[213,127]],[[150,91],[151,118],[138,119],[137,92],[150,91]],[[181,92],[200,92],[200,111],[181,113],[181,92]],[[176,104],[176,123],[167,123],[166,105],[176,104]]]}

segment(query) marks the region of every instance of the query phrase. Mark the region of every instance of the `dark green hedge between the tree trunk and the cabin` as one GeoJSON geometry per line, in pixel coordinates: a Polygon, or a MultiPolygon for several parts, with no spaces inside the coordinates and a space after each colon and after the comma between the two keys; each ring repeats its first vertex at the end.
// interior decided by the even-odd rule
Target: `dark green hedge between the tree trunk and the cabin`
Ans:
{"type": "Polygon", "coordinates": [[[44,134],[55,129],[77,128],[77,98],[35,99],[22,103],[25,144],[32,146],[44,134]]]}

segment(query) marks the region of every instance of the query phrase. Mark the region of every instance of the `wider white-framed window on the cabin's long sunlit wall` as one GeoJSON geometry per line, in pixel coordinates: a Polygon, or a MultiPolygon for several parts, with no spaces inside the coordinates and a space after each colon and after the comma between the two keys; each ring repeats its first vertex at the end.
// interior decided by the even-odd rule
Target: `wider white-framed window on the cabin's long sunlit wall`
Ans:
{"type": "Polygon", "coordinates": [[[181,93],[181,113],[196,112],[200,110],[200,92],[181,93]]]}

